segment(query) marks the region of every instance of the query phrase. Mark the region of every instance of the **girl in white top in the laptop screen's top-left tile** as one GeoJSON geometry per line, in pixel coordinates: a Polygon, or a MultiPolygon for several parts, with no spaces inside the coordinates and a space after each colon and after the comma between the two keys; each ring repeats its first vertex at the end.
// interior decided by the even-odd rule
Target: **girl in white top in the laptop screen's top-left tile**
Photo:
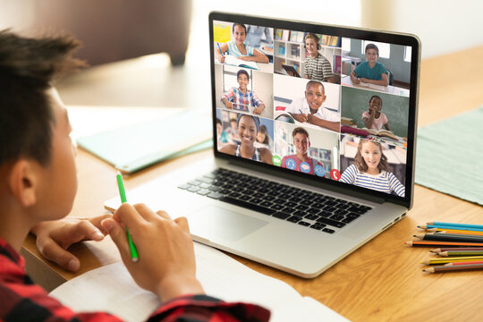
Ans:
{"type": "Polygon", "coordinates": [[[226,43],[220,43],[216,46],[215,55],[216,60],[219,63],[225,63],[226,51],[229,55],[233,55],[238,59],[250,62],[258,63],[268,63],[268,57],[263,53],[259,52],[257,49],[251,47],[244,43],[245,38],[247,38],[247,27],[242,23],[233,23],[232,27],[233,40],[226,43]],[[220,52],[221,50],[221,52],[220,52]]]}

